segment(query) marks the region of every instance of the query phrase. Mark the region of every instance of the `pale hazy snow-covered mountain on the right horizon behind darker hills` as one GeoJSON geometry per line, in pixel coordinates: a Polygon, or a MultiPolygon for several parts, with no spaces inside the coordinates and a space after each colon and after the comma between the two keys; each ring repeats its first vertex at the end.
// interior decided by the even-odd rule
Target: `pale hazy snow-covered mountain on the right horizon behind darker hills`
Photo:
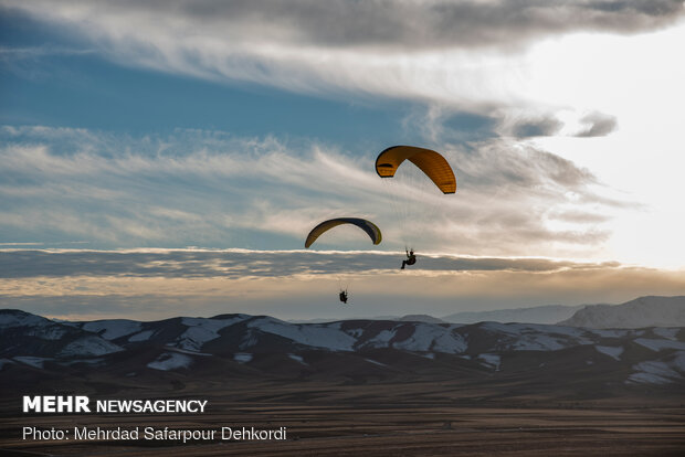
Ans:
{"type": "Polygon", "coordinates": [[[685,327],[685,296],[640,297],[622,305],[590,305],[559,325],[592,329],[685,327]]]}

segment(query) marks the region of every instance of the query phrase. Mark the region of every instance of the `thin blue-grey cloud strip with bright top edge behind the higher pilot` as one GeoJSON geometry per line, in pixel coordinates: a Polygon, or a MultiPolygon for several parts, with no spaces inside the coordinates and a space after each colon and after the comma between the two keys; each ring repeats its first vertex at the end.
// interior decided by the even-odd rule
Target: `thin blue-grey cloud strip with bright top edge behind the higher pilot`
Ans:
{"type": "MultiPolygon", "coordinates": [[[[394,272],[403,253],[249,249],[0,251],[0,278],[164,277],[245,278],[295,275],[363,275],[394,272]]],[[[618,263],[575,263],[545,258],[457,257],[421,254],[421,272],[528,272],[619,267],[618,263]]]]}

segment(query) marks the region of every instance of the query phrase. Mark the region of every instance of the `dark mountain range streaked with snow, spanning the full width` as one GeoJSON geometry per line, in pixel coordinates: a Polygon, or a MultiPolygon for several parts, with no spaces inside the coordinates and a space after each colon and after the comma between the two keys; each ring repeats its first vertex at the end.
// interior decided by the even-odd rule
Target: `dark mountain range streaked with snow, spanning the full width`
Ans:
{"type": "MultiPolygon", "coordinates": [[[[52,321],[0,310],[0,380],[259,376],[367,380],[529,379],[558,385],[682,386],[685,330],[599,330],[533,323],[347,320],[266,316],[152,322],[52,321]],[[31,374],[35,373],[35,374],[31,374]],[[158,373],[158,374],[155,374],[158,373]],[[580,376],[580,378],[579,378],[580,376]]],[[[519,382],[519,381],[516,381],[519,382]]],[[[580,387],[578,387],[580,389],[580,387]]]]}

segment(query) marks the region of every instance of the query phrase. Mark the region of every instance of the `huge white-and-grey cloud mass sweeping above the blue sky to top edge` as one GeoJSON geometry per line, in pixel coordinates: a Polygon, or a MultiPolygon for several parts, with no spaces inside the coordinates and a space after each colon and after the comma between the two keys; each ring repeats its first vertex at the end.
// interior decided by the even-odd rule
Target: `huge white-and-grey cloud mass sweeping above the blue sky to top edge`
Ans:
{"type": "MultiPolygon", "coordinates": [[[[570,34],[650,32],[677,23],[685,11],[681,0],[1,4],[81,36],[84,49],[125,66],[360,103],[408,99],[499,120],[529,111],[512,129],[518,137],[558,131],[552,117],[538,118],[540,109],[578,104],[558,79],[542,81],[554,84],[554,100],[540,93],[538,79],[548,72],[528,61],[534,45],[570,34]]],[[[573,67],[578,55],[567,51],[555,54],[573,67]]],[[[611,130],[608,119],[596,125],[586,134],[611,130]]]]}

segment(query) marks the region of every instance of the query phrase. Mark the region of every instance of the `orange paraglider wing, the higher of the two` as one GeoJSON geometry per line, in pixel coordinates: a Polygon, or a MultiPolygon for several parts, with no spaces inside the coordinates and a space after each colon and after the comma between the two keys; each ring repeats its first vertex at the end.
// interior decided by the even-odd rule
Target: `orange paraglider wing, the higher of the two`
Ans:
{"type": "Polygon", "coordinates": [[[447,160],[439,152],[414,146],[392,146],[376,159],[376,172],[381,178],[392,178],[404,160],[419,167],[443,193],[456,192],[456,178],[447,160]]]}

